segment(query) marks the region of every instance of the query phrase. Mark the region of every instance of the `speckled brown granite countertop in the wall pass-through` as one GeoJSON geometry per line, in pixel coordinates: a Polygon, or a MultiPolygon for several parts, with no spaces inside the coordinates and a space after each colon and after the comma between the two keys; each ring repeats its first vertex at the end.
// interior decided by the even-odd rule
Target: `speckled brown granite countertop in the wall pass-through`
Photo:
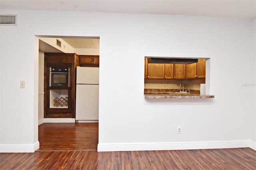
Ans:
{"type": "Polygon", "coordinates": [[[199,90],[190,90],[190,93],[179,93],[178,89],[144,89],[146,99],[206,99],[214,95],[200,95],[199,90]]]}

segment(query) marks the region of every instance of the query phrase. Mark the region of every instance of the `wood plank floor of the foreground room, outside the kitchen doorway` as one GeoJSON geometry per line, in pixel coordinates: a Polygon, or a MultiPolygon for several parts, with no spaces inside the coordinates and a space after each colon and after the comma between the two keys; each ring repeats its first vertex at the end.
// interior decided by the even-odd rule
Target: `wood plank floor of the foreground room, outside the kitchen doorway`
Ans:
{"type": "Polygon", "coordinates": [[[1,170],[255,170],[250,148],[0,153],[1,170]]]}

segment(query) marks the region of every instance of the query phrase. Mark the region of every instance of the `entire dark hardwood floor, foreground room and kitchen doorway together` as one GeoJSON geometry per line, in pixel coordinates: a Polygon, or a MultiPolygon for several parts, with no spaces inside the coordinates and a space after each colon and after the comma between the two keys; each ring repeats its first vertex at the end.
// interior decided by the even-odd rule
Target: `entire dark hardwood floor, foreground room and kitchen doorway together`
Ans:
{"type": "Polygon", "coordinates": [[[256,170],[256,151],[250,148],[97,152],[98,131],[89,130],[97,124],[56,127],[62,130],[40,125],[40,149],[34,153],[0,153],[0,170],[256,170]],[[87,135],[97,137],[87,145],[87,135]]]}

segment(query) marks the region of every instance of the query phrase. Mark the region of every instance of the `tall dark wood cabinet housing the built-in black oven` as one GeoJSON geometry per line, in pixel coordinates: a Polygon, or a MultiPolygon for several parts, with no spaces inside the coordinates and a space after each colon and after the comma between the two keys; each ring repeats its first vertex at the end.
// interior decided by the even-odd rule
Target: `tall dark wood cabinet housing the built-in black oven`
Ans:
{"type": "MultiPolygon", "coordinates": [[[[77,65],[79,65],[79,57],[76,53],[44,54],[44,118],[75,118],[77,65]],[[68,85],[61,87],[52,85],[54,74],[50,69],[52,67],[68,68],[68,85]]],[[[62,78],[56,80],[63,81],[62,78]]]]}

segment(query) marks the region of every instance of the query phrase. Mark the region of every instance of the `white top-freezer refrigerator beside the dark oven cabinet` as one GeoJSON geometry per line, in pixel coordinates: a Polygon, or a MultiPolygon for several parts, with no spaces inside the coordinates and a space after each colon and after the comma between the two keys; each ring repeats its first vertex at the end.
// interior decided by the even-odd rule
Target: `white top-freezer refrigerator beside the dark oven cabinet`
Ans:
{"type": "Polygon", "coordinates": [[[76,68],[76,121],[99,120],[99,67],[76,68]]]}

